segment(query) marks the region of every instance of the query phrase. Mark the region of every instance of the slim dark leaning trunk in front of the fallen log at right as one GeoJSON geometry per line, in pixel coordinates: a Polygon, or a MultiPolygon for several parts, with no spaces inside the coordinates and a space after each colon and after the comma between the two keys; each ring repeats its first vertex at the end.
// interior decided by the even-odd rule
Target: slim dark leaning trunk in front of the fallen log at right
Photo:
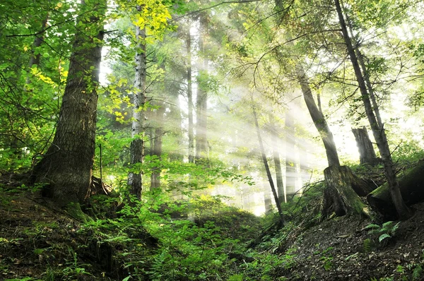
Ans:
{"type": "Polygon", "coordinates": [[[391,160],[391,153],[389,149],[389,144],[387,143],[386,133],[384,132],[384,127],[379,126],[378,121],[375,118],[375,114],[370,102],[370,95],[367,92],[365,80],[363,78],[363,73],[361,72],[360,66],[358,64],[358,58],[355,54],[355,50],[353,49],[351,37],[349,37],[348,35],[348,30],[346,28],[346,22],[343,17],[343,12],[341,11],[340,2],[338,0],[334,0],[334,3],[336,5],[338,20],[340,23],[341,31],[343,33],[343,39],[348,49],[348,54],[351,58],[356,80],[358,81],[358,86],[365,107],[365,112],[372,128],[372,134],[374,135],[375,141],[377,142],[379,153],[382,157],[384,173],[386,174],[387,183],[390,187],[391,200],[394,202],[396,212],[398,213],[399,218],[401,220],[406,220],[408,217],[411,217],[411,211],[406,206],[404,199],[402,199],[401,191],[399,190],[399,183],[396,179],[396,174],[394,172],[393,161],[391,160]]]}

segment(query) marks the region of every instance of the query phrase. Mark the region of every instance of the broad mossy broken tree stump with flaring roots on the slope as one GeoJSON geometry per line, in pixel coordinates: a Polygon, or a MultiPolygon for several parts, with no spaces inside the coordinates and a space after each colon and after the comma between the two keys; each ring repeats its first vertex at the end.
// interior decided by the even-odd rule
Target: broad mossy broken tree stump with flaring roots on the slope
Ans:
{"type": "MultiPolygon", "coordinates": [[[[324,178],[326,182],[326,196],[324,197],[333,203],[325,204],[332,205],[336,215],[358,214],[370,217],[370,211],[360,200],[358,194],[366,196],[372,189],[365,181],[356,177],[349,167],[327,167],[324,169],[324,178]]],[[[328,210],[329,208],[326,210],[326,215],[328,215],[328,210]]]]}

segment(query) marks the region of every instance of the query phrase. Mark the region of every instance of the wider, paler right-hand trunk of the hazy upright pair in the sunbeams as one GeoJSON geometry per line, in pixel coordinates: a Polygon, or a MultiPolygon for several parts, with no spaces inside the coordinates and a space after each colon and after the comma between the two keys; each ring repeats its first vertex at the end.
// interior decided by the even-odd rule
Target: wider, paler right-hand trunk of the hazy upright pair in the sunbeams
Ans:
{"type": "MultiPolygon", "coordinates": [[[[208,32],[207,24],[206,15],[202,13],[199,17],[199,50],[203,56],[206,56],[205,37],[208,32]]],[[[199,69],[196,99],[196,162],[199,160],[208,160],[208,89],[206,87],[206,81],[204,81],[208,76],[208,60],[204,57],[201,61],[202,63],[200,65],[202,69],[199,69]]]]}

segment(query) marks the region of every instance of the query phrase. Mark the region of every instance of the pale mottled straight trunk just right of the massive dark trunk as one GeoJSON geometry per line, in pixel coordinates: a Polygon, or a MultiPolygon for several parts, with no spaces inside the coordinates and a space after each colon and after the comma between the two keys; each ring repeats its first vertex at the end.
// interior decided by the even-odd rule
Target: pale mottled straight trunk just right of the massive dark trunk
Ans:
{"type": "MultiPolygon", "coordinates": [[[[137,6],[137,11],[141,11],[142,7],[137,6]]],[[[129,193],[141,199],[141,191],[143,189],[143,172],[141,164],[144,157],[144,124],[145,124],[145,108],[146,104],[146,30],[136,26],[136,76],[134,81],[134,108],[133,121],[131,128],[130,145],[130,172],[128,184],[130,186],[129,193]]]]}

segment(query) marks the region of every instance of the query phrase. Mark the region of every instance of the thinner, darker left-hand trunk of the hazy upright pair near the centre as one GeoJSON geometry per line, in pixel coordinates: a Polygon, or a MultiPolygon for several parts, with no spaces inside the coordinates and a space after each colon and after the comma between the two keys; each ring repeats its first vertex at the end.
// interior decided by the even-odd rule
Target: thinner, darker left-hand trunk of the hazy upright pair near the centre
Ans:
{"type": "MultiPolygon", "coordinates": [[[[191,23],[191,21],[189,21],[191,23]]],[[[193,82],[192,82],[192,34],[190,27],[187,29],[187,103],[189,116],[189,163],[194,163],[194,123],[193,123],[193,82]]]]}

